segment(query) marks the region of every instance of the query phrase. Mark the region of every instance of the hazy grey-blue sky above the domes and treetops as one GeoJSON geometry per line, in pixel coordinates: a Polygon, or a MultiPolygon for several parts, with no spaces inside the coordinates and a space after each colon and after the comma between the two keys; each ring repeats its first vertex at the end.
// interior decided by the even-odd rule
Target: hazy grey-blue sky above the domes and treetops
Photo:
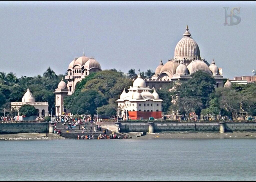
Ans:
{"type": "MultiPolygon", "coordinates": [[[[101,69],[155,71],[174,57],[186,25],[200,54],[225,78],[256,69],[255,2],[0,2],[0,71],[64,74],[74,57],[94,56],[101,69]],[[224,26],[225,9],[241,22],[224,26]],[[236,13],[236,11],[235,11],[236,13]]],[[[228,23],[230,18],[228,18],[228,23]]],[[[236,19],[234,18],[234,22],[236,19]]]]}

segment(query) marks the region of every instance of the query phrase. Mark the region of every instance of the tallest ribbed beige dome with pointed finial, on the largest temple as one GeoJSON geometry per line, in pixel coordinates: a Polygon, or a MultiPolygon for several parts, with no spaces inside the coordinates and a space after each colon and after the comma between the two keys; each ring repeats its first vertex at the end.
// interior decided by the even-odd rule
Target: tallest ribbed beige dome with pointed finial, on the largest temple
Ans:
{"type": "Polygon", "coordinates": [[[188,31],[183,34],[183,38],[178,42],[174,51],[174,60],[193,59],[194,57],[200,57],[200,50],[196,41],[190,37],[191,34],[188,31]]]}

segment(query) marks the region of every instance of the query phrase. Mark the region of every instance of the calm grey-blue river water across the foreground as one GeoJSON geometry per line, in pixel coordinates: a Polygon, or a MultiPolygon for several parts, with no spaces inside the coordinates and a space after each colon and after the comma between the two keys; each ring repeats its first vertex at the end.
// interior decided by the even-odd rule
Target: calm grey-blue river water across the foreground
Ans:
{"type": "Polygon", "coordinates": [[[255,139],[0,141],[0,180],[255,180],[255,139]]]}

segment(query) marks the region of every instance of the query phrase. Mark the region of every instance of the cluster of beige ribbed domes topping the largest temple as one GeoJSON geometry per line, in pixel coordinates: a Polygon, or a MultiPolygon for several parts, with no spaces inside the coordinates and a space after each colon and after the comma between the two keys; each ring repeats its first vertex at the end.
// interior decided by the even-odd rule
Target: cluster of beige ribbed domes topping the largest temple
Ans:
{"type": "Polygon", "coordinates": [[[163,64],[162,59],[155,70],[156,80],[163,78],[180,78],[190,76],[196,71],[203,71],[212,76],[219,76],[220,71],[215,61],[211,65],[200,57],[199,46],[191,37],[188,26],[183,34],[183,38],[178,42],[174,50],[174,58],[163,64]]]}

